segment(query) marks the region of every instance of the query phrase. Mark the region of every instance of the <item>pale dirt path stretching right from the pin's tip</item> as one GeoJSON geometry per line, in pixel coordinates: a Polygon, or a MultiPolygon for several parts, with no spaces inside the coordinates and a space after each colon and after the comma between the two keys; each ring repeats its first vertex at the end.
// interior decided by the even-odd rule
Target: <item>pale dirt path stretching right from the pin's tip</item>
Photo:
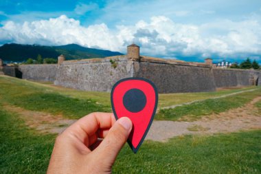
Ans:
{"type": "Polygon", "coordinates": [[[261,116],[254,104],[255,98],[244,107],[230,109],[219,114],[205,116],[194,122],[153,121],[146,140],[166,141],[185,134],[225,133],[249,129],[261,129],[261,116]]]}

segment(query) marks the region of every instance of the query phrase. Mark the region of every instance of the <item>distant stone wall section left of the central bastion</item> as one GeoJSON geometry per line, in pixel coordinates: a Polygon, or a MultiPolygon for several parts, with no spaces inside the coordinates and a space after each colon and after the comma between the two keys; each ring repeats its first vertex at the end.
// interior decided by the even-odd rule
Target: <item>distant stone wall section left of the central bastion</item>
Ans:
{"type": "Polygon", "coordinates": [[[38,80],[38,81],[50,81],[55,80],[57,71],[57,64],[43,64],[43,65],[20,65],[19,72],[21,78],[38,80]]]}

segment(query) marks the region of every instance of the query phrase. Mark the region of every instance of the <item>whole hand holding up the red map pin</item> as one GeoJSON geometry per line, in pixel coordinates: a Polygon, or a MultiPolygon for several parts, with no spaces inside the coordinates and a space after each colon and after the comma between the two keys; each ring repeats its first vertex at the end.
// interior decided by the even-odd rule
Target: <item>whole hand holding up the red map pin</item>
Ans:
{"type": "Polygon", "coordinates": [[[56,138],[47,173],[111,173],[132,128],[129,118],[116,121],[113,113],[80,118],[56,138]]]}

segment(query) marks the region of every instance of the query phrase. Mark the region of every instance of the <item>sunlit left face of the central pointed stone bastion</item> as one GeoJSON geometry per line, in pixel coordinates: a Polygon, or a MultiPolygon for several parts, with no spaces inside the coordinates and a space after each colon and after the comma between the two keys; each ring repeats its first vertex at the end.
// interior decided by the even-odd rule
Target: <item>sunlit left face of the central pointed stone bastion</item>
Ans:
{"type": "Polygon", "coordinates": [[[58,67],[54,85],[85,91],[111,91],[117,80],[132,76],[131,69],[132,62],[124,58],[115,63],[108,58],[65,61],[58,67]]]}

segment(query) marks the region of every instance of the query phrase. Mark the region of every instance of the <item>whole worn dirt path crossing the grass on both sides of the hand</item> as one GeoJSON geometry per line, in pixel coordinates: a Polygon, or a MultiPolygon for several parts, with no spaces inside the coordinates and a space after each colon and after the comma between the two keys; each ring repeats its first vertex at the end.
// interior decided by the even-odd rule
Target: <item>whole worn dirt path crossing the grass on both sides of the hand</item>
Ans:
{"type": "MultiPolygon", "coordinates": [[[[205,116],[194,122],[157,121],[152,123],[146,140],[167,141],[185,134],[225,133],[249,129],[261,129],[261,116],[254,106],[261,100],[257,97],[244,107],[205,116]]],[[[43,133],[60,133],[76,120],[67,120],[63,116],[53,116],[41,111],[28,111],[21,107],[3,106],[6,110],[19,113],[25,123],[43,133]]]]}

